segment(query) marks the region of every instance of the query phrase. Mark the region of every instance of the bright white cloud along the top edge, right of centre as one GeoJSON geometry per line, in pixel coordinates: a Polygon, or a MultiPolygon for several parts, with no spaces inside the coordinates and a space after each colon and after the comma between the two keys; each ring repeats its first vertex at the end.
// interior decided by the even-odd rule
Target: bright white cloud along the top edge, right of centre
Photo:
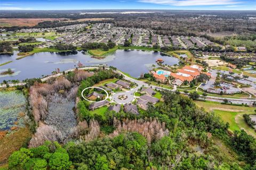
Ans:
{"type": "Polygon", "coordinates": [[[235,0],[139,0],[139,2],[174,6],[232,5],[239,3],[235,0]]]}

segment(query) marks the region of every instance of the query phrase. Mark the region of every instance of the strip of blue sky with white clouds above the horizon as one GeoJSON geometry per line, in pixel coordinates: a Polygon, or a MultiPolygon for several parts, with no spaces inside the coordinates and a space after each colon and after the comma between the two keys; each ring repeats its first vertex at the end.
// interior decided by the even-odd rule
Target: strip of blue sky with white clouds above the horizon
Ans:
{"type": "Polygon", "coordinates": [[[0,10],[111,9],[256,10],[256,0],[0,0],[0,10]]]}

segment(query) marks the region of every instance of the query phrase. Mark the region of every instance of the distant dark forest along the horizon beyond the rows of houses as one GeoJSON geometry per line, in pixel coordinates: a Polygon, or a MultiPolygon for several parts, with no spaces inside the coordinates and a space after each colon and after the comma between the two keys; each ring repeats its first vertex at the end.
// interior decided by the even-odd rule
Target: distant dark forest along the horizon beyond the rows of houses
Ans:
{"type": "MultiPolygon", "coordinates": [[[[207,33],[229,31],[234,34],[255,34],[256,22],[249,20],[255,11],[179,11],[179,10],[148,10],[154,13],[123,14],[127,10],[74,10],[74,11],[3,11],[3,18],[113,18],[106,20],[115,26],[150,28],[161,35],[199,36],[207,33]],[[81,14],[83,12],[92,12],[81,14]],[[100,13],[93,12],[115,12],[100,13]]],[[[141,10],[135,10],[141,11],[141,10]]],[[[147,10],[142,10],[147,11],[147,10]]],[[[92,22],[92,21],[90,21],[92,22]]],[[[95,21],[93,21],[95,22],[95,21]]],[[[102,21],[98,21],[102,22],[102,21]]],[[[51,28],[76,24],[77,22],[45,21],[34,28],[51,28]]],[[[18,27],[6,28],[15,30],[18,27]]]]}

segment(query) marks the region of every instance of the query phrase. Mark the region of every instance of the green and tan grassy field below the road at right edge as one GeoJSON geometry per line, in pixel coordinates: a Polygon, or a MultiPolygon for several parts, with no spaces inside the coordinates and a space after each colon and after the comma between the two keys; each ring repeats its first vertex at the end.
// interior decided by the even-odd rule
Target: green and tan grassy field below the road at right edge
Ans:
{"type": "Polygon", "coordinates": [[[256,137],[254,130],[245,123],[243,118],[243,114],[255,114],[254,107],[231,106],[217,102],[195,102],[197,106],[203,107],[206,111],[213,111],[219,115],[225,123],[228,122],[230,131],[234,132],[243,128],[248,134],[256,137]]]}

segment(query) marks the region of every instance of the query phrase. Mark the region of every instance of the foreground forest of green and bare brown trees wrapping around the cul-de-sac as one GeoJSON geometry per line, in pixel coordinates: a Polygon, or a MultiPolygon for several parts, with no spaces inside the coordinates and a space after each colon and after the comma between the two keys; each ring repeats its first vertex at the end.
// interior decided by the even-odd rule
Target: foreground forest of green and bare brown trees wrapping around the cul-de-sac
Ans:
{"type": "Polygon", "coordinates": [[[81,90],[113,77],[122,78],[111,69],[93,75],[77,70],[31,86],[30,106],[39,127],[28,147],[10,156],[9,169],[256,168],[256,140],[243,130],[230,135],[228,123],[187,96],[162,91],[163,103],[149,104],[138,116],[123,111],[107,111],[105,117],[90,114],[81,90]],[[76,123],[70,116],[52,116],[62,111],[55,103],[66,106],[65,98],[75,102],[67,109],[70,116],[75,112],[76,123]]]}

